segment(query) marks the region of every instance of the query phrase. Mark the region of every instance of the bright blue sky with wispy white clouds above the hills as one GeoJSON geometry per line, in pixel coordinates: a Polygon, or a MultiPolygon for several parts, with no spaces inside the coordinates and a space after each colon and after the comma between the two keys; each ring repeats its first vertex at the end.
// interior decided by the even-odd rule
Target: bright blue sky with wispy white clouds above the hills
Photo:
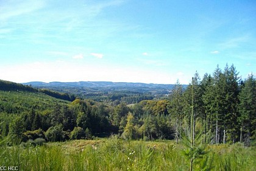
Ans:
{"type": "Polygon", "coordinates": [[[0,79],[187,84],[256,75],[256,1],[0,0],[0,79]]]}

